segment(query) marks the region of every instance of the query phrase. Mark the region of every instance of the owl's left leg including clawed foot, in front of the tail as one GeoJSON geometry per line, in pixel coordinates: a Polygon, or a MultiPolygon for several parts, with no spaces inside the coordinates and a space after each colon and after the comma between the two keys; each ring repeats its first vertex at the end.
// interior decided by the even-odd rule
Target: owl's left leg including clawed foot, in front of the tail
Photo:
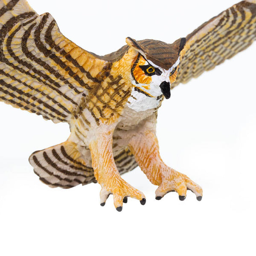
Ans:
{"type": "Polygon", "coordinates": [[[104,206],[108,196],[113,194],[114,206],[117,211],[122,211],[123,201],[126,202],[128,196],[140,200],[140,203],[144,205],[145,195],[120,176],[113,158],[112,141],[113,129],[106,128],[96,131],[89,144],[94,175],[102,187],[100,203],[104,206]]]}

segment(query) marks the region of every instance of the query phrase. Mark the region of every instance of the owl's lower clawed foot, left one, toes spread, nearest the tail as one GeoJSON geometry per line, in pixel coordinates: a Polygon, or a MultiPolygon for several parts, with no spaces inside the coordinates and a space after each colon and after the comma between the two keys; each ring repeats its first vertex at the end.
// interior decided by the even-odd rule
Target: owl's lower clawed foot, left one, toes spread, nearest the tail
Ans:
{"type": "Polygon", "coordinates": [[[121,177],[111,178],[111,180],[102,186],[100,192],[100,205],[104,206],[109,195],[113,194],[114,206],[118,212],[122,211],[122,204],[127,203],[128,197],[140,200],[140,204],[146,203],[145,195],[132,187],[121,177]]]}

